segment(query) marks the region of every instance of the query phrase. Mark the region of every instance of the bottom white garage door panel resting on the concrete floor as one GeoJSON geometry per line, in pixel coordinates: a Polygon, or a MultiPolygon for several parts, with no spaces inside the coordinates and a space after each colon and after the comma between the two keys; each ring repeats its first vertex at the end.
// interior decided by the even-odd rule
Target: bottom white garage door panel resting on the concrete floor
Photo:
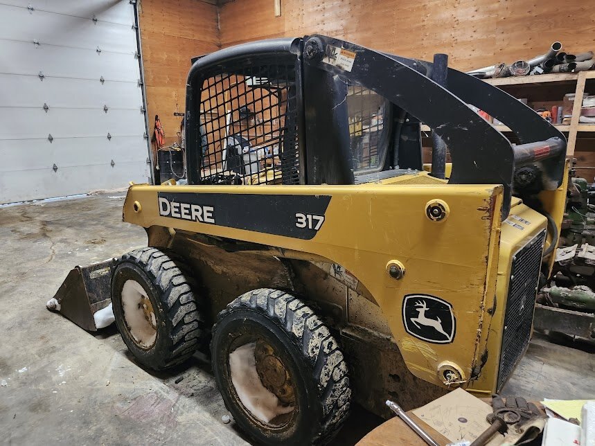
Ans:
{"type": "MultiPolygon", "coordinates": [[[[139,161],[112,166],[85,166],[8,172],[0,175],[0,202],[22,202],[30,199],[77,195],[91,190],[125,188],[130,181],[146,179],[146,164],[139,161]],[[81,175],[84,169],[85,175],[81,175]],[[8,194],[10,192],[10,195],[8,194]]],[[[146,181],[146,180],[144,180],[146,181]]]]}

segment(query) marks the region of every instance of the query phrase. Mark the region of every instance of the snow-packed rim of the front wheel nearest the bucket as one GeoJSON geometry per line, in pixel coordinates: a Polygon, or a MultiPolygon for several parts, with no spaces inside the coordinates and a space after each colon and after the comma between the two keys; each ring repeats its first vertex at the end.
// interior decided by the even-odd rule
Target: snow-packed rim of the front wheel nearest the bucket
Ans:
{"type": "Polygon", "coordinates": [[[129,279],[121,296],[126,328],[134,344],[145,350],[151,348],[157,340],[157,319],[147,292],[136,280],[129,279]]]}

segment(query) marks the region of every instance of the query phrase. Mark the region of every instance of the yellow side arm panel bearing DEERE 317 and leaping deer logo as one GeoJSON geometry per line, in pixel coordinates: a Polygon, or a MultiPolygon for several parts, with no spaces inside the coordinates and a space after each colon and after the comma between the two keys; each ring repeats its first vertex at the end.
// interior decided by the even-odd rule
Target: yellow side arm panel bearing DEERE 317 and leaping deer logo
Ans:
{"type": "Polygon", "coordinates": [[[460,371],[463,381],[472,375],[486,295],[495,294],[495,269],[488,269],[488,253],[497,256],[494,229],[499,225],[501,194],[501,186],[466,185],[138,185],[129,190],[124,220],[145,228],[172,227],[292,249],[342,265],[380,306],[409,371],[441,384],[438,368],[445,362],[460,371]],[[169,214],[160,215],[159,193],[177,194],[179,202],[169,202],[169,214]],[[230,212],[225,208],[227,200],[215,199],[219,194],[242,197],[235,205],[236,218],[256,216],[260,228],[249,231],[239,229],[239,224],[217,224],[221,215],[230,212]],[[196,201],[197,196],[206,195],[213,200],[196,201]],[[274,200],[285,196],[286,200],[263,212],[265,208],[254,206],[254,195],[274,200]],[[330,200],[321,215],[290,204],[296,197],[330,200]],[[427,204],[436,199],[447,208],[447,216],[440,221],[427,216],[427,204]],[[202,222],[192,218],[191,204],[202,206],[202,222]],[[172,217],[172,206],[181,218],[172,217]],[[210,208],[208,221],[205,206],[210,208]],[[291,221],[279,222],[280,215],[291,221]],[[293,224],[296,232],[275,235],[270,233],[272,224],[293,224]],[[310,240],[300,237],[309,231],[315,232],[310,240]],[[400,280],[387,272],[393,260],[405,266],[400,280]]]}

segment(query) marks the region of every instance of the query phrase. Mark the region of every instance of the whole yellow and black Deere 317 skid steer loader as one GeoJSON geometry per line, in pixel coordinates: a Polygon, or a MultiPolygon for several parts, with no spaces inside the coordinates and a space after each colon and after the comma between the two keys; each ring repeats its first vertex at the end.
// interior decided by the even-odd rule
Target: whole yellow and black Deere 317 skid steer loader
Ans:
{"type": "Polygon", "coordinates": [[[188,75],[188,184],[128,190],[123,220],[148,247],[78,267],[57,299],[88,330],[111,301],[148,368],[210,348],[258,443],[326,442],[352,400],[389,416],[387,398],[490,395],[529,344],[565,148],[529,107],[442,63],[321,35],[226,48],[188,75]]]}

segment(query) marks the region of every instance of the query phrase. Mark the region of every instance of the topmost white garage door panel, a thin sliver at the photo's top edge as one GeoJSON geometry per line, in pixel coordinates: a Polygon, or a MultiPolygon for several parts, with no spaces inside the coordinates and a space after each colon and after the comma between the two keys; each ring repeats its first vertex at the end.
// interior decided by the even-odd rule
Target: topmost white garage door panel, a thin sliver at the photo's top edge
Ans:
{"type": "Polygon", "coordinates": [[[76,17],[93,18],[111,21],[116,24],[130,25],[134,23],[134,9],[130,1],[117,0],[2,0],[6,5],[27,8],[33,6],[31,15],[42,11],[51,11],[58,14],[76,17]]]}

